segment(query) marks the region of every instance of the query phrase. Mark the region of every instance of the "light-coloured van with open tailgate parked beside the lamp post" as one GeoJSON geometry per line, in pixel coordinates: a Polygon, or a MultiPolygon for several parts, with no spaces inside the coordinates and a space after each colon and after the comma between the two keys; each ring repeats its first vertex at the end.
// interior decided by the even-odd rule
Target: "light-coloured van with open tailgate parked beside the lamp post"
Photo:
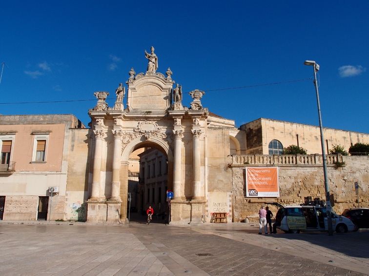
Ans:
{"type": "MultiPolygon", "coordinates": [[[[328,231],[327,208],[321,206],[300,205],[283,206],[278,202],[265,202],[284,208],[281,225],[277,228],[286,233],[300,233],[300,231],[328,231]]],[[[353,231],[355,225],[348,218],[331,212],[332,229],[337,233],[353,231]]]]}

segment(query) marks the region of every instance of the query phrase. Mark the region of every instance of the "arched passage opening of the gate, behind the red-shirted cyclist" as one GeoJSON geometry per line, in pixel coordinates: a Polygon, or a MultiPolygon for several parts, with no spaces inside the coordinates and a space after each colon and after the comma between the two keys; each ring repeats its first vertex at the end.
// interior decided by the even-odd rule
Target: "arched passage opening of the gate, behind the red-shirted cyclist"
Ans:
{"type": "Polygon", "coordinates": [[[129,221],[145,221],[146,209],[151,206],[154,209],[152,222],[165,222],[168,208],[166,191],[172,188],[172,167],[172,151],[158,138],[149,141],[137,138],[124,148],[121,158],[121,221],[125,220],[124,210],[129,221]],[[125,172],[127,181],[122,177],[125,172]],[[125,190],[127,201],[124,200],[125,190]]]}

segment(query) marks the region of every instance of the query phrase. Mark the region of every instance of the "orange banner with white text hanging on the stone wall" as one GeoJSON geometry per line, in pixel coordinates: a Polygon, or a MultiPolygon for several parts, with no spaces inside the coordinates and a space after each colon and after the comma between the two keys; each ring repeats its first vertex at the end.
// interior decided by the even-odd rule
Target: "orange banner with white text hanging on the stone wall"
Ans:
{"type": "Polygon", "coordinates": [[[279,197],[278,167],[246,167],[247,197],[279,197]]]}

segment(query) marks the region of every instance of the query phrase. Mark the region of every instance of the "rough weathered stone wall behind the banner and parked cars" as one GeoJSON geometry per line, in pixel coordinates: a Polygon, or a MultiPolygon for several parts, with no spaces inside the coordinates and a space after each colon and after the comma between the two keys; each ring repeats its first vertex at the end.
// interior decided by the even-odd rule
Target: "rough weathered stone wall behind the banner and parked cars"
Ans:
{"type": "MultiPolygon", "coordinates": [[[[344,167],[328,166],[331,205],[337,214],[358,206],[355,182],[359,183],[360,207],[369,207],[369,156],[342,156],[342,160],[346,163],[344,167]]],[[[305,197],[325,199],[322,165],[278,166],[279,198],[246,198],[245,166],[250,165],[232,167],[234,222],[246,218],[251,222],[258,221],[258,212],[264,202],[299,205],[305,197]]],[[[277,211],[274,206],[270,210],[273,214],[277,211]]]]}

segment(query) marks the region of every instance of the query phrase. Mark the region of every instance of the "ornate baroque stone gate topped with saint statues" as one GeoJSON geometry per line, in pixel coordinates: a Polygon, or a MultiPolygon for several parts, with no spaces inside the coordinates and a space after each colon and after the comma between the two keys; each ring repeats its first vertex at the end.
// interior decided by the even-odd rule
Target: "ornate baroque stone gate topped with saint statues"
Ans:
{"type": "MultiPolygon", "coordinates": [[[[147,55],[155,55],[153,48],[147,55]]],[[[157,63],[150,64],[157,57],[148,60],[145,74],[136,75],[133,68],[129,72],[126,108],[122,84],[116,90],[114,107],[105,102],[108,92],[94,94],[98,102],[88,112],[94,133],[92,183],[86,202],[89,222],[126,221],[128,158],[139,147],[159,147],[168,157],[168,188],[174,193],[172,222],[201,222],[205,213],[208,110],[200,100],[204,92],[189,92],[193,102],[190,108],[183,107],[182,86],[173,89],[170,69],[165,77],[155,72],[157,63]]]]}

